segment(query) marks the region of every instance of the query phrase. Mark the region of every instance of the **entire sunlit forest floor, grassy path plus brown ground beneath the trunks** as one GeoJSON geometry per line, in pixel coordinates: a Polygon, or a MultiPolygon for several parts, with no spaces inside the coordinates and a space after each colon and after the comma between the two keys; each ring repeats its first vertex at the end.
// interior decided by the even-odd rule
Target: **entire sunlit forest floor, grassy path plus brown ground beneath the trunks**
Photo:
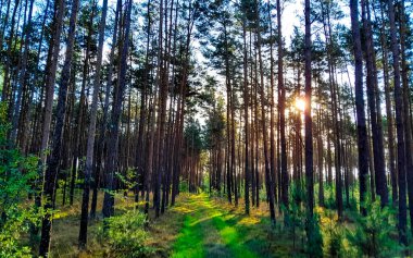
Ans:
{"type": "MultiPolygon", "coordinates": [[[[99,195],[100,198],[102,196],[99,195]]],[[[117,196],[115,202],[115,214],[135,206],[133,196],[117,196]]],[[[99,239],[101,220],[89,224],[87,250],[78,253],[77,206],[79,204],[75,200],[74,206],[63,207],[57,214],[51,257],[108,257],[108,247],[99,239]]],[[[149,257],[303,256],[303,239],[293,241],[292,234],[283,229],[281,221],[272,226],[265,202],[260,208],[251,207],[250,216],[246,216],[242,200],[235,207],[226,199],[209,197],[204,193],[182,194],[176,205],[160,218],[154,219],[152,209],[150,212],[149,237],[145,243],[152,250],[149,257]]]]}

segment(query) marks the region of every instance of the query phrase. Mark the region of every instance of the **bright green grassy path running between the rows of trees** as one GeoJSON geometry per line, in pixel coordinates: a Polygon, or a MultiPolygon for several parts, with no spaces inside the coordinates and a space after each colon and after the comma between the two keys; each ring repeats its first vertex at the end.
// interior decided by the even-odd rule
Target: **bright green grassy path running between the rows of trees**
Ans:
{"type": "Polygon", "coordinates": [[[260,257],[245,243],[234,216],[208,195],[191,195],[180,208],[189,212],[173,245],[173,258],[260,257]]]}

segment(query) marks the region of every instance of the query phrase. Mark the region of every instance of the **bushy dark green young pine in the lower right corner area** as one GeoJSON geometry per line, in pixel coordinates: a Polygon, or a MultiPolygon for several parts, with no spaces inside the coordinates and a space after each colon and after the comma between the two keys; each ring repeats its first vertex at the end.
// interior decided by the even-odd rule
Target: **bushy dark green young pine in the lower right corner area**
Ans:
{"type": "Polygon", "coordinates": [[[355,229],[348,231],[348,239],[358,256],[395,257],[401,250],[397,239],[395,211],[380,207],[370,198],[364,204],[367,216],[354,214],[355,229]]]}

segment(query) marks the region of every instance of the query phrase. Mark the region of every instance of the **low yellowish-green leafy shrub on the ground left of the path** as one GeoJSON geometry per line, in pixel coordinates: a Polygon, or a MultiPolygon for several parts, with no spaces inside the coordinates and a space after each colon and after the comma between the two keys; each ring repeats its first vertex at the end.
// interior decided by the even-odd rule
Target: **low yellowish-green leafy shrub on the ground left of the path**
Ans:
{"type": "Polygon", "coordinates": [[[116,257],[145,257],[151,249],[145,246],[148,233],[143,226],[146,214],[138,211],[127,211],[122,216],[105,220],[104,232],[101,230],[102,242],[109,245],[110,253],[116,257]]]}

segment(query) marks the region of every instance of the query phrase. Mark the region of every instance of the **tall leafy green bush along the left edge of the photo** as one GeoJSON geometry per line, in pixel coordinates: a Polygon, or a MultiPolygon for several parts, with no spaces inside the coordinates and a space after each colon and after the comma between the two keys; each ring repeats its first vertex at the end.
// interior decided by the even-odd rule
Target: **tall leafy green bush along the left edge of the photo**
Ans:
{"type": "Polygon", "coordinates": [[[0,257],[32,257],[30,248],[23,246],[22,235],[37,224],[41,212],[24,200],[33,193],[38,159],[24,157],[13,148],[7,136],[7,106],[0,105],[0,257]]]}

